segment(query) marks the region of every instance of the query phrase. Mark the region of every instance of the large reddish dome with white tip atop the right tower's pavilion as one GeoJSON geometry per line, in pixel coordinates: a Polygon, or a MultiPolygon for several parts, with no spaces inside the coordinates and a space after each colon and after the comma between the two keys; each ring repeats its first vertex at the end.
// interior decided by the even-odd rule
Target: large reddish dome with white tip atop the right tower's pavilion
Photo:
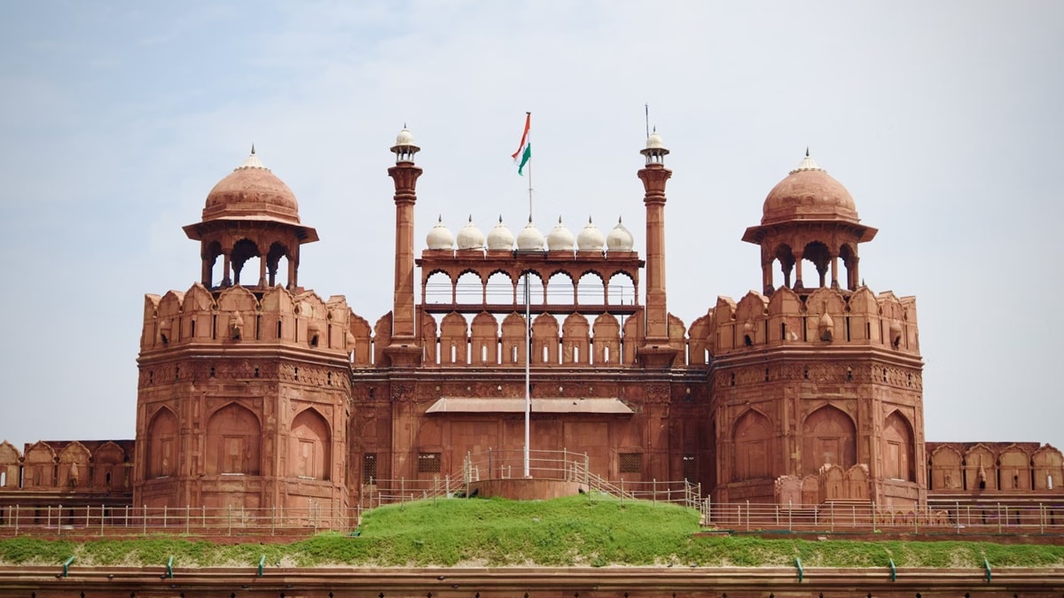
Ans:
{"type": "Polygon", "coordinates": [[[820,168],[809,152],[765,198],[761,223],[787,220],[859,221],[850,192],[820,168]]]}

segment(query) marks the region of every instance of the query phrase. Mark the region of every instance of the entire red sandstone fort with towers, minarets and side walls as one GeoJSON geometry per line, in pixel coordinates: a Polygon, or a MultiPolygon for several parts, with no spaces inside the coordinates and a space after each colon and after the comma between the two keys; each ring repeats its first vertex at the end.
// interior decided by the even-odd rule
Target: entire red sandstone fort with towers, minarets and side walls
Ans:
{"type": "Polygon", "coordinates": [[[201,280],[145,297],[136,441],[0,444],[0,517],[62,500],[340,512],[382,480],[439,479],[488,451],[486,476],[518,477],[502,455],[525,447],[526,370],[530,446],[586,455],[608,480],[897,510],[1061,494],[1053,447],[926,441],[916,301],[863,285],[877,230],[808,154],[743,235],[761,293],[685,323],[668,311],[656,133],[636,172],[643,255],[620,222],[544,235],[530,220],[515,236],[500,220],[485,237],[470,219],[436,225],[418,256],[418,151],[405,129],[392,148],[394,302],[370,323],[301,286],[317,233],[252,150],[184,228],[201,280]]]}

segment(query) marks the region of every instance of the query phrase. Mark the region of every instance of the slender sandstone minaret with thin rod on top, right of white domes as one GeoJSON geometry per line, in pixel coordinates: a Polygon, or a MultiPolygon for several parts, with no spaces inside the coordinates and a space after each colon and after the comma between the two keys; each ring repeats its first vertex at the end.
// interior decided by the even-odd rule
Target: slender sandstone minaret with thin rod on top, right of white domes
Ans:
{"type": "Polygon", "coordinates": [[[676,349],[668,345],[668,308],[665,302],[665,183],[672,171],[665,168],[668,150],[654,130],[647,137],[647,147],[639,151],[646,166],[639,179],[647,206],[647,301],[646,343],[639,348],[639,362],[648,367],[668,367],[676,349]]]}

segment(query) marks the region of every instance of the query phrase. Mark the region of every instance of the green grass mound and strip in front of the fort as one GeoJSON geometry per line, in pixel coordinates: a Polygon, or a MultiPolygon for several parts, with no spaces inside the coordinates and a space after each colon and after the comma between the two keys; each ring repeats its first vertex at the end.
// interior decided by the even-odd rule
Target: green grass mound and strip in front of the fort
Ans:
{"type": "Polygon", "coordinates": [[[671,504],[591,500],[439,500],[368,513],[360,537],[331,532],[292,544],[222,545],[176,536],[85,543],[0,541],[0,564],[74,566],[606,566],[981,568],[1064,566],[1064,546],[969,542],[810,542],[751,536],[694,537],[698,513],[671,504]]]}

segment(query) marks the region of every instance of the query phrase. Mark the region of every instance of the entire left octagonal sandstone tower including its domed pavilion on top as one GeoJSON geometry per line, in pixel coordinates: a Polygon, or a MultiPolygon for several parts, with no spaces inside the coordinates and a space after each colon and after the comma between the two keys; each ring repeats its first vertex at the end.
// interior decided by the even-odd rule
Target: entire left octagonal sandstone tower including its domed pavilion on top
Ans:
{"type": "Polygon", "coordinates": [[[298,284],[299,248],[317,233],[253,149],[184,230],[200,242],[201,281],[145,297],[134,503],[338,524],[350,310],[298,284]]]}

